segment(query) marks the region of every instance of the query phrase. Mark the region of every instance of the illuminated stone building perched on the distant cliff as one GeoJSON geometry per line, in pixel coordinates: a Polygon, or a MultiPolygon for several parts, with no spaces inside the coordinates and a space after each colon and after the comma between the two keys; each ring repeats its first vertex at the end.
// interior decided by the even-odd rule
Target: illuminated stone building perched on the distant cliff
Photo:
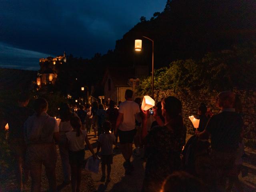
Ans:
{"type": "Polygon", "coordinates": [[[39,88],[44,85],[54,84],[57,79],[58,66],[66,62],[66,53],[63,56],[57,56],[55,58],[40,58],[39,65],[40,70],[38,71],[38,76],[36,79],[36,84],[39,88]]]}

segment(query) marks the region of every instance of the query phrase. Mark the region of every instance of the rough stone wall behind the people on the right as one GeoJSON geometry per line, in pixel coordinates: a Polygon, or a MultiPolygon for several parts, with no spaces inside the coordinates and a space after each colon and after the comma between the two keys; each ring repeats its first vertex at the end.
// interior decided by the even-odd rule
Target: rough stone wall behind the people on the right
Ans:
{"type": "MultiPolygon", "coordinates": [[[[247,146],[256,147],[256,90],[233,90],[242,102],[242,118],[244,120],[244,141],[247,146]]],[[[160,101],[165,96],[176,96],[182,101],[183,119],[188,133],[193,134],[193,125],[188,116],[196,115],[201,102],[211,105],[214,114],[219,112],[216,108],[218,92],[206,90],[174,92],[172,90],[155,90],[155,99],[160,101]]]]}

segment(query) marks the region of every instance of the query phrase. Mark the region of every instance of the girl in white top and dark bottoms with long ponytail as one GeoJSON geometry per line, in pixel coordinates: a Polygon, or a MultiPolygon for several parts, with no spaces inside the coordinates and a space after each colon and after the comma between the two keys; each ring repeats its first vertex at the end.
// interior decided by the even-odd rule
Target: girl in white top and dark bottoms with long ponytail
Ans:
{"type": "Polygon", "coordinates": [[[82,123],[77,116],[70,118],[70,124],[73,130],[66,133],[69,149],[69,163],[71,166],[72,192],[80,191],[82,163],[84,161],[84,144],[86,143],[94,160],[97,156],[88,140],[86,130],[81,130],[82,123]]]}

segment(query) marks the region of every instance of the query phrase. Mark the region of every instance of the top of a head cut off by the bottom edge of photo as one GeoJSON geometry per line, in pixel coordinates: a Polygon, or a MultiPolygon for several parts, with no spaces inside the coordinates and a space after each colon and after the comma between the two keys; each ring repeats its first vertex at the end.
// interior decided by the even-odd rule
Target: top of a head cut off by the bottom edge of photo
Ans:
{"type": "Polygon", "coordinates": [[[202,182],[188,174],[179,171],[169,175],[162,184],[160,192],[202,192],[202,182]]]}

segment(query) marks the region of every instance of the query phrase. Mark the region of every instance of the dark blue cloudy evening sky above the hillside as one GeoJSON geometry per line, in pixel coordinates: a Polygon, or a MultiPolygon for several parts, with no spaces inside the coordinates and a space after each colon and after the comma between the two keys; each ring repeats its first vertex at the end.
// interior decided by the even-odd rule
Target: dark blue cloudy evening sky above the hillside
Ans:
{"type": "Polygon", "coordinates": [[[0,67],[37,70],[39,58],[66,51],[91,58],[114,49],[166,0],[0,0],[0,67]]]}

